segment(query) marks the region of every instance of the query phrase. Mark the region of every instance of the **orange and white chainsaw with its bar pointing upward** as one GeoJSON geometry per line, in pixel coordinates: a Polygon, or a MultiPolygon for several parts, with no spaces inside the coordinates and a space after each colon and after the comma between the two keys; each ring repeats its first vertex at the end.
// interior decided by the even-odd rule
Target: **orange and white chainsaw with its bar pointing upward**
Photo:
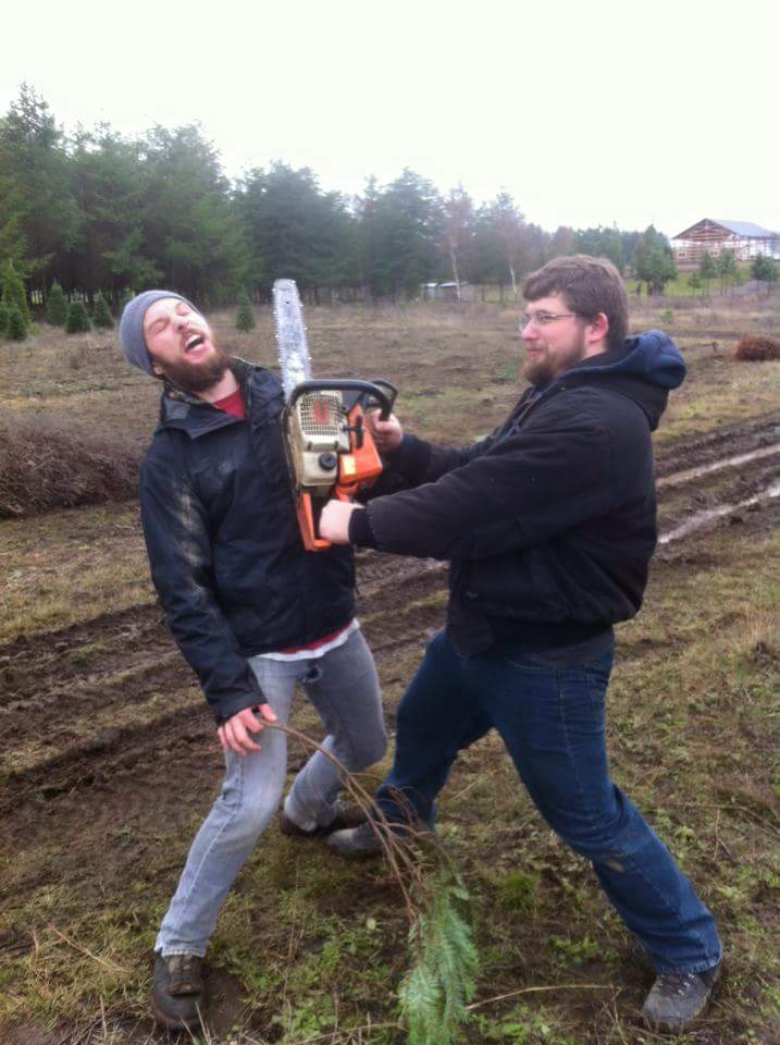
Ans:
{"type": "Polygon", "coordinates": [[[327,501],[351,501],[382,471],[366,411],[379,407],[381,419],[387,420],[397,390],[384,380],[311,378],[304,315],[293,280],[274,283],[273,311],[286,401],[284,445],[298,526],[307,551],[321,552],[331,548],[330,541],[318,537],[327,501]]]}

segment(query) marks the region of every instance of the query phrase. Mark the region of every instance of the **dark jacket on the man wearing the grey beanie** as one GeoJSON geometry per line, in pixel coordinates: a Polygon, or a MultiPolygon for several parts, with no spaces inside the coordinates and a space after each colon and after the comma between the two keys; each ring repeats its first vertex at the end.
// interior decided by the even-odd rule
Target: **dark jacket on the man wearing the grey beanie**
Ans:
{"type": "Polygon", "coordinates": [[[350,549],[309,554],[282,442],[282,385],[233,360],[246,419],[166,389],[140,471],[144,536],[169,627],[219,723],[264,698],[247,657],[355,613],[350,549]]]}

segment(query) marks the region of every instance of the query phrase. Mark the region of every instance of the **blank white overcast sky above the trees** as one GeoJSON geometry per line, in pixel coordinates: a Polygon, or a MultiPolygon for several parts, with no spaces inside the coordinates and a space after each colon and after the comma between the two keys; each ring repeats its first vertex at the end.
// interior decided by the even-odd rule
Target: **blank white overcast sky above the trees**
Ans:
{"type": "Polygon", "coordinates": [[[226,172],[273,159],[360,192],[404,167],[554,230],[780,229],[778,4],[741,0],[42,0],[3,14],[69,132],[200,122],[226,172]]]}

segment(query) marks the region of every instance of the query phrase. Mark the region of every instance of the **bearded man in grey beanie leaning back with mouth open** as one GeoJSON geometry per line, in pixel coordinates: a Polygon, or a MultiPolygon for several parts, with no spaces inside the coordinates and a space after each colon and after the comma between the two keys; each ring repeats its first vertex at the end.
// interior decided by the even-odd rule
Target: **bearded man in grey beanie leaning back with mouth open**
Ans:
{"type": "MultiPolygon", "coordinates": [[[[355,619],[352,552],[311,554],[299,536],[278,379],[225,354],[205,317],[171,291],[133,298],[120,341],[129,362],[162,382],[140,472],[144,536],[169,627],[225,758],[222,791],[154,948],[151,1011],[186,1029],[202,1012],[202,958],[220,907],[282,797],[286,736],[264,725],[287,723],[301,684],[325,726],[325,750],[349,770],[381,759],[386,737],[355,619]]],[[[282,829],[311,837],[350,826],[339,788],[333,763],[315,752],[285,800],[282,829]]]]}

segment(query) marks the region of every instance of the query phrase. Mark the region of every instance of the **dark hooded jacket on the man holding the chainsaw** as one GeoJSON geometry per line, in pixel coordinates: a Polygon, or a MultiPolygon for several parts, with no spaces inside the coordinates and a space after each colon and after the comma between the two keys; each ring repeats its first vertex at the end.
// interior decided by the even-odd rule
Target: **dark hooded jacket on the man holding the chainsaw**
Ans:
{"type": "Polygon", "coordinates": [[[350,540],[451,561],[447,627],[462,653],[511,634],[565,644],[626,620],[656,544],[651,431],[684,374],[651,331],[529,390],[474,446],[405,435],[376,491],[399,492],[352,513],[350,540]]]}

